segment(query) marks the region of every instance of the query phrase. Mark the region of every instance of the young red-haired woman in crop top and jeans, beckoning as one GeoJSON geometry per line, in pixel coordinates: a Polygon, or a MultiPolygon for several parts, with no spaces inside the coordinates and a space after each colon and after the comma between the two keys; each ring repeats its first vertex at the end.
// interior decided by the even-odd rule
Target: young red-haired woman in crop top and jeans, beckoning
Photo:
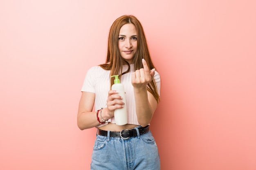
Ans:
{"type": "Polygon", "coordinates": [[[157,145],[149,130],[159,103],[160,76],[135,16],[121,16],[112,24],[106,63],[88,70],[81,91],[77,124],[81,130],[98,128],[91,170],[160,170],[157,145]],[[119,75],[126,103],[118,91],[110,90],[111,75],[119,75]],[[124,105],[128,124],[119,126],[114,110],[124,105]]]}

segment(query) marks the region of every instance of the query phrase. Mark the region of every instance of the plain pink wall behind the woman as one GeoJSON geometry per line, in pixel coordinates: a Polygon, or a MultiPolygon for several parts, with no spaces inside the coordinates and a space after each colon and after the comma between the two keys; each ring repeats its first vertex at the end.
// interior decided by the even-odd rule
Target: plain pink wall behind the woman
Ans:
{"type": "Polygon", "coordinates": [[[141,20],[162,76],[162,170],[256,169],[254,0],[1,0],[0,169],[89,170],[76,113],[108,29],[141,20]]]}

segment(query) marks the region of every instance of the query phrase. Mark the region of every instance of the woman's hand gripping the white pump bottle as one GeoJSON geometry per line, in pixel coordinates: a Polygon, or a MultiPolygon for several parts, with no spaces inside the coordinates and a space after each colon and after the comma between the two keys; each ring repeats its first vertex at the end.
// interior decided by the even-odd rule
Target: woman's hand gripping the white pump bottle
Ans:
{"type": "Polygon", "coordinates": [[[108,117],[114,116],[114,110],[117,108],[124,107],[124,102],[121,101],[122,97],[117,95],[118,91],[110,90],[108,91],[108,99],[107,99],[107,115],[108,117]]]}

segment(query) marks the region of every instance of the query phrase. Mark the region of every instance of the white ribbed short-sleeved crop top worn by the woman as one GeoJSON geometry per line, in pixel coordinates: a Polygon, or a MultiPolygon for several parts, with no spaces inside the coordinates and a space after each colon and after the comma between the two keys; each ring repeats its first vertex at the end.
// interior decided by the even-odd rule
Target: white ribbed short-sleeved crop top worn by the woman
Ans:
{"type": "MultiPolygon", "coordinates": [[[[126,71],[127,69],[128,66],[124,65],[123,71],[126,71]]],[[[131,83],[132,72],[134,72],[134,64],[130,64],[130,71],[122,75],[120,82],[124,85],[124,90],[126,92],[128,124],[134,124],[139,126],[136,115],[133,86],[131,83]]],[[[160,95],[160,76],[157,71],[155,71],[154,79],[157,85],[158,94],[160,95]]],[[[90,68],[85,76],[81,91],[95,93],[95,111],[106,107],[109,90],[110,71],[104,70],[100,66],[93,66],[92,68],[90,68]]],[[[111,117],[110,119],[108,119],[108,122],[115,124],[115,117],[111,117]]],[[[101,124],[100,126],[104,125],[106,124],[101,124]]]]}

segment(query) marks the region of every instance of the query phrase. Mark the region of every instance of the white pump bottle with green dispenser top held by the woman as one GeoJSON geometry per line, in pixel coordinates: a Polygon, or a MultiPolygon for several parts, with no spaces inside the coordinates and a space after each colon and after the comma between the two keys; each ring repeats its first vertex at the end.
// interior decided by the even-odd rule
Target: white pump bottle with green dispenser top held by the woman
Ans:
{"type": "Polygon", "coordinates": [[[111,77],[115,77],[114,84],[111,87],[111,90],[118,91],[117,95],[122,97],[121,101],[124,102],[123,108],[118,108],[114,110],[114,117],[117,125],[125,125],[127,124],[127,108],[126,108],[126,98],[124,92],[124,85],[120,83],[120,79],[118,75],[112,75],[111,77]]]}

